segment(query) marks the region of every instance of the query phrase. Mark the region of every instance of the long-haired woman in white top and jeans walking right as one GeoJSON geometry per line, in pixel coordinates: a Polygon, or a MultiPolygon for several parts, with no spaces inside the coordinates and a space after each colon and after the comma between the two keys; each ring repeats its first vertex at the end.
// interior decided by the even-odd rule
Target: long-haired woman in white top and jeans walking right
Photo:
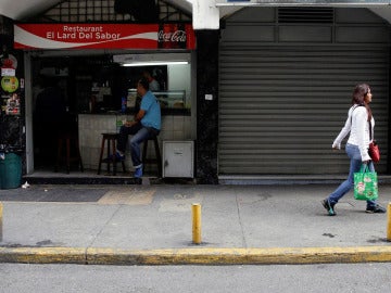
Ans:
{"type": "MultiPolygon", "coordinates": [[[[353,189],[354,173],[360,171],[363,164],[367,164],[369,171],[375,171],[374,163],[368,154],[370,142],[369,131],[374,133],[375,119],[371,114],[369,103],[373,95],[370,88],[366,84],[357,85],[353,90],[352,107],[349,110],[348,119],[344,127],[332,143],[332,149],[340,150],[341,141],[348,136],[349,140],[345,152],[350,157],[350,170],[345,181],[343,181],[327,199],[321,201],[329,216],[335,216],[335,206],[338,201],[353,189]]],[[[386,208],[375,201],[367,201],[366,213],[386,213],[386,208]]]]}

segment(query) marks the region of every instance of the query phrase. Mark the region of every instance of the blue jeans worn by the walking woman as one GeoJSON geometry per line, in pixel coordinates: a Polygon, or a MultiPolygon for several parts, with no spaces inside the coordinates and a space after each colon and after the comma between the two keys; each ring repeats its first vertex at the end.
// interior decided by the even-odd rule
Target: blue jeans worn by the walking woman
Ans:
{"type": "MultiPolygon", "coordinates": [[[[363,163],[357,145],[346,144],[345,148],[346,154],[351,160],[350,170],[348,179],[344,180],[328,198],[331,205],[337,204],[343,195],[351,191],[354,187],[354,174],[360,171],[363,163]]],[[[369,171],[375,171],[374,163],[370,161],[368,163],[369,171]]],[[[367,207],[376,205],[375,201],[367,201],[367,207]]]]}

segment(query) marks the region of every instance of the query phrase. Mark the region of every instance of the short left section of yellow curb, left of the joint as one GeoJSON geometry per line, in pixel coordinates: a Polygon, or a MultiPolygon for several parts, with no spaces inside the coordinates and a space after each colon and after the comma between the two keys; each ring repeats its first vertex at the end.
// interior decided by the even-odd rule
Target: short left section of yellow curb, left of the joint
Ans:
{"type": "Polygon", "coordinates": [[[86,264],[86,249],[0,247],[0,263],[86,264]]]}

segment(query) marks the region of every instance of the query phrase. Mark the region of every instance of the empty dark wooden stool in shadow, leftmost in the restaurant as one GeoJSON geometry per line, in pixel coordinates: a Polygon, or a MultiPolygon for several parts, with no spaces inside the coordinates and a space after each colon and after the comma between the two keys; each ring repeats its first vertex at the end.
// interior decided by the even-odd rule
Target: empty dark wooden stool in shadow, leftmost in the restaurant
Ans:
{"type": "Polygon", "coordinates": [[[58,157],[54,171],[59,171],[61,161],[65,161],[66,163],[66,174],[70,174],[71,162],[77,162],[77,165],[80,164],[80,170],[84,171],[80,150],[78,145],[78,136],[76,132],[65,132],[58,136],[58,157]],[[74,143],[74,149],[76,151],[76,154],[74,156],[71,156],[72,142],[74,143]],[[65,144],[65,157],[62,154],[63,144],[65,144]]]}

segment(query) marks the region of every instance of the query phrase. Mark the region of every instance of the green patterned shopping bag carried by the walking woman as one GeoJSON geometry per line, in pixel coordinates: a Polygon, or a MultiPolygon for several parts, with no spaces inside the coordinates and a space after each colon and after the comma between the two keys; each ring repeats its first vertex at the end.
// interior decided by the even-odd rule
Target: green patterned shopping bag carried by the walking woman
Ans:
{"type": "Polygon", "coordinates": [[[360,173],[354,174],[354,199],[360,201],[375,201],[378,198],[377,173],[369,171],[368,166],[362,166],[360,173]]]}

